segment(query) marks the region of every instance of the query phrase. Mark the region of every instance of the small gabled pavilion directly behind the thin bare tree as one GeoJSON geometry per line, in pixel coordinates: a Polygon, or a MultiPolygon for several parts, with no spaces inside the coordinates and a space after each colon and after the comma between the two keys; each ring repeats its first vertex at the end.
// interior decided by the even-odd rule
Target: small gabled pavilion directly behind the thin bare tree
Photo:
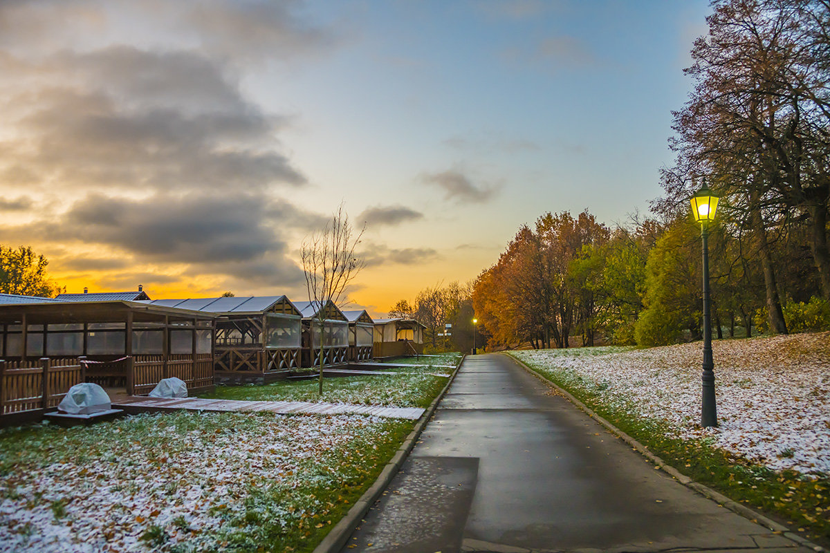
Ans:
{"type": "Polygon", "coordinates": [[[349,362],[349,320],[333,302],[320,309],[320,303],[295,302],[303,316],[302,366],[320,366],[320,351],[323,365],[336,366],[349,362]],[[323,311],[322,347],[320,347],[320,311],[323,311]]]}

